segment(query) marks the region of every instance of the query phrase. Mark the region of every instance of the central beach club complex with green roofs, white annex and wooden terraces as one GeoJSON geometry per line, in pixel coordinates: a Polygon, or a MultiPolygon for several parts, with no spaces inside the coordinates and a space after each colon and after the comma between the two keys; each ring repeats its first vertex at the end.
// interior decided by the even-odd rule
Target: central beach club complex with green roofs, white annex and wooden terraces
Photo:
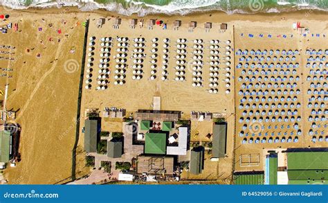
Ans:
{"type": "Polygon", "coordinates": [[[137,158],[138,174],[173,175],[174,160],[176,156],[187,155],[190,136],[188,126],[175,123],[180,116],[181,112],[175,111],[135,112],[137,132],[131,134],[132,146],[143,147],[137,158]]]}

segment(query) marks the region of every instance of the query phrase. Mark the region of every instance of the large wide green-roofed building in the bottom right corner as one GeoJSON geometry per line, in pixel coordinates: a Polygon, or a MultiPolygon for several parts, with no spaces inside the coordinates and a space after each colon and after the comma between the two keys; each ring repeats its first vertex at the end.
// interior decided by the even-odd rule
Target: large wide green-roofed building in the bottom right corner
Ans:
{"type": "Polygon", "coordinates": [[[328,184],[328,152],[287,152],[289,184],[328,184]]]}

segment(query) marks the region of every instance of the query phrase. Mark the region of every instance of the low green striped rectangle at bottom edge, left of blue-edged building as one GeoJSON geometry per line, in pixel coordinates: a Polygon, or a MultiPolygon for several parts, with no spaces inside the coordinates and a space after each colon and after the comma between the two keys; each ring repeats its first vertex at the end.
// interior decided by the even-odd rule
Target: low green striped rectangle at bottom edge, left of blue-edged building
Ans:
{"type": "Polygon", "coordinates": [[[233,182],[235,185],[263,185],[264,172],[237,172],[233,174],[233,182]]]}

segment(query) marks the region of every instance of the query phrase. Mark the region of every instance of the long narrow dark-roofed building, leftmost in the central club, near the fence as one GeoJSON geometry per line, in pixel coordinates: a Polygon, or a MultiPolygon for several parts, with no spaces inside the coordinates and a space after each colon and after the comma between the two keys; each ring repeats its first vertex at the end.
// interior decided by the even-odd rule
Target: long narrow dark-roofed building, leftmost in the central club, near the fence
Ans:
{"type": "Polygon", "coordinates": [[[97,152],[98,120],[85,120],[84,123],[84,150],[97,152]]]}

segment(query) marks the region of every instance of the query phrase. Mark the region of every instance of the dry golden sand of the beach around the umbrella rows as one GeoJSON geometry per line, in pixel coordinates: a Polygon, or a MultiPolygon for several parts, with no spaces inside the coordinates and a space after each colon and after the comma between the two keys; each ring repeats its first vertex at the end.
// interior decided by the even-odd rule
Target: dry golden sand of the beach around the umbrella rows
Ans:
{"type": "MultiPolygon", "coordinates": [[[[127,70],[126,83],[124,85],[113,85],[115,82],[114,68],[109,74],[109,85],[104,91],[95,89],[96,83],[93,80],[91,89],[82,89],[81,115],[88,108],[118,107],[127,109],[130,114],[138,109],[152,109],[153,96],[161,96],[161,109],[179,110],[183,112],[183,118],[190,118],[190,112],[215,112],[224,113],[228,121],[227,157],[220,163],[210,163],[213,171],[209,171],[210,179],[227,179],[231,177],[233,170],[263,170],[263,165],[244,167],[239,163],[240,156],[257,154],[262,157],[263,148],[288,148],[298,147],[327,147],[328,143],[311,141],[312,136],[307,132],[311,129],[311,123],[307,122],[311,109],[306,108],[306,101],[309,98],[306,91],[311,82],[306,81],[309,71],[305,69],[307,63],[305,51],[307,49],[322,49],[328,47],[328,16],[325,12],[290,12],[273,13],[263,15],[226,15],[223,12],[194,13],[186,16],[156,15],[143,17],[145,22],[143,28],[137,25],[135,29],[129,28],[129,19],[140,19],[133,15],[131,17],[119,16],[115,13],[104,10],[93,12],[79,12],[77,8],[48,8],[48,9],[28,9],[28,10],[3,10],[1,13],[9,13],[7,21],[0,21],[1,26],[11,22],[18,23],[17,32],[8,30],[7,34],[1,35],[0,44],[15,46],[15,60],[8,63],[8,60],[0,60],[0,67],[13,69],[8,76],[0,78],[0,89],[9,83],[9,94],[7,109],[17,111],[15,122],[21,125],[21,139],[19,152],[21,161],[15,168],[8,168],[4,171],[8,184],[61,184],[70,180],[72,168],[72,149],[75,143],[76,115],[78,111],[79,82],[82,70],[82,55],[84,42],[83,22],[89,19],[89,37],[95,37],[96,50],[100,49],[100,39],[102,37],[129,37],[133,40],[136,37],[145,37],[146,48],[145,63],[143,71],[145,74],[141,80],[132,80],[131,69],[127,70]],[[106,19],[102,28],[96,27],[96,21],[104,17],[106,19]],[[113,20],[116,17],[122,19],[120,28],[113,29],[113,20]],[[161,26],[154,26],[152,30],[147,28],[147,20],[161,19],[167,24],[167,29],[161,26]],[[179,19],[182,26],[179,30],[173,30],[173,22],[179,19]],[[197,21],[197,28],[192,33],[188,32],[188,22],[197,21]],[[206,33],[203,28],[205,22],[212,22],[212,29],[206,33]],[[300,21],[302,26],[309,28],[307,37],[299,35],[293,30],[293,23],[300,21]],[[219,33],[220,24],[228,24],[228,29],[224,33],[219,33]],[[311,34],[320,33],[320,37],[311,37],[311,34]],[[242,35],[243,34],[243,35],[242,35]],[[248,37],[248,35],[255,37],[248,37]],[[258,37],[259,35],[264,37],[258,37]],[[272,35],[272,38],[266,36],[272,35]],[[277,37],[277,36],[281,37],[277,37]],[[282,37],[287,35],[289,37],[282,37]],[[293,37],[290,37],[293,35],[293,37]],[[150,46],[152,39],[160,39],[158,44],[158,71],[156,80],[149,80],[150,77],[150,46]],[[169,80],[161,80],[161,67],[163,60],[163,39],[170,39],[169,56],[169,80]],[[185,81],[175,81],[174,68],[176,64],[176,41],[178,39],[188,39],[186,43],[187,62],[192,58],[192,46],[194,39],[203,39],[204,46],[208,48],[212,39],[218,39],[222,43],[230,40],[231,58],[230,60],[230,94],[226,94],[226,67],[219,70],[218,93],[210,94],[209,78],[210,64],[205,63],[203,71],[203,87],[192,87],[192,71],[185,71],[185,81]],[[299,136],[298,143],[258,143],[242,144],[244,137],[239,136],[242,124],[239,117],[242,110],[238,109],[242,99],[237,93],[242,89],[242,83],[237,81],[241,76],[241,71],[235,69],[239,56],[234,53],[237,50],[249,51],[252,49],[276,50],[292,49],[304,53],[298,56],[295,62],[300,64],[297,75],[301,80],[297,85],[302,92],[298,96],[298,101],[302,107],[299,110],[302,120],[299,123],[302,136],[299,136]],[[220,76],[224,76],[221,78],[220,76]],[[215,167],[216,165],[216,167],[215,167]],[[46,180],[46,181],[45,181],[46,180]]],[[[114,48],[111,58],[116,55],[118,42],[113,42],[114,48]]],[[[132,46],[132,43],[131,45],[132,46]]],[[[226,44],[221,44],[226,46],[226,44]]],[[[133,48],[131,48],[132,50],[133,48]]],[[[129,52],[128,58],[131,57],[129,52]]],[[[210,51],[206,49],[203,53],[204,61],[209,62],[210,51]]],[[[94,60],[99,63],[100,52],[95,51],[94,60]]],[[[109,63],[110,67],[115,67],[115,61],[109,63]]],[[[129,65],[132,62],[129,59],[129,65]]],[[[98,68],[95,65],[95,68],[98,68]]],[[[82,78],[84,84],[84,78],[82,78]]],[[[94,79],[98,76],[93,74],[94,79]]],[[[327,81],[327,78],[325,79],[327,81]]],[[[271,91],[271,89],[270,89],[271,91]]],[[[3,96],[0,96],[1,100],[3,96]]],[[[327,109],[327,107],[326,107],[327,109]]],[[[205,121],[204,121],[205,122],[205,121]]],[[[323,124],[323,123],[322,123],[323,124]]],[[[104,121],[103,129],[118,132],[122,130],[122,124],[113,121],[104,121]]],[[[273,123],[274,125],[274,123],[273,123]]],[[[291,123],[293,125],[293,123],[291,123]]],[[[83,119],[80,123],[80,132],[84,126],[83,119]]],[[[210,132],[210,124],[203,123],[197,126],[193,132],[200,132],[199,137],[192,135],[192,140],[201,140],[204,135],[210,132]],[[199,129],[200,128],[200,129],[199,129]]],[[[323,128],[327,135],[327,128],[323,128]]],[[[80,133],[81,134],[81,133],[80,133]]],[[[75,170],[77,177],[87,175],[90,170],[84,166],[83,134],[80,135],[78,143],[77,167],[75,170]]],[[[206,141],[206,140],[203,140],[206,141]]],[[[206,167],[206,166],[205,166],[206,167]]],[[[186,175],[187,177],[187,175],[186,175]]],[[[199,177],[192,177],[197,179],[199,177]]]]}

